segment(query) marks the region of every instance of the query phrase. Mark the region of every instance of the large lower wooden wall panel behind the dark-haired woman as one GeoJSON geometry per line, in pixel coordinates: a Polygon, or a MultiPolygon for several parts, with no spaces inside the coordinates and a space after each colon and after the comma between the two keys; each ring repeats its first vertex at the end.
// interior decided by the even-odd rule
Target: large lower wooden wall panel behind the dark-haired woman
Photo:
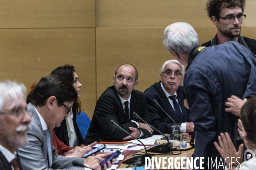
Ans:
{"type": "Polygon", "coordinates": [[[90,117],[96,104],[95,28],[0,29],[0,80],[33,82],[64,64],[79,75],[81,102],[90,117]]]}

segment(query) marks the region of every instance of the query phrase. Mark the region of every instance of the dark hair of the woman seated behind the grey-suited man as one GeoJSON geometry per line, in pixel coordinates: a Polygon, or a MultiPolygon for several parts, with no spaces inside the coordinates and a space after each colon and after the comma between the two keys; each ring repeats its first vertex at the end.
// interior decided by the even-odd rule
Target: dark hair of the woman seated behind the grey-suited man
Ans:
{"type": "MultiPolygon", "coordinates": [[[[61,77],[63,77],[64,79],[67,79],[72,85],[74,84],[74,72],[75,71],[75,67],[73,65],[63,65],[63,66],[59,66],[57,68],[55,68],[51,74],[57,74],[61,77]]],[[[81,113],[81,101],[80,99],[77,99],[74,102],[74,107],[72,108],[73,113],[81,113]]]]}

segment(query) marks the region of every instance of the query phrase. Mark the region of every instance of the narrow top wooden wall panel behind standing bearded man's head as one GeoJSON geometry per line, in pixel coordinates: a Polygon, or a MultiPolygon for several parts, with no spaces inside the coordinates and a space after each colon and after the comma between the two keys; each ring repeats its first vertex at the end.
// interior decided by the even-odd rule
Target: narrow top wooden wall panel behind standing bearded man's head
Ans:
{"type": "MultiPolygon", "coordinates": [[[[215,27],[207,16],[206,0],[96,0],[96,27],[166,27],[186,22],[215,27]]],[[[244,26],[256,26],[255,0],[247,0],[244,26]]]]}

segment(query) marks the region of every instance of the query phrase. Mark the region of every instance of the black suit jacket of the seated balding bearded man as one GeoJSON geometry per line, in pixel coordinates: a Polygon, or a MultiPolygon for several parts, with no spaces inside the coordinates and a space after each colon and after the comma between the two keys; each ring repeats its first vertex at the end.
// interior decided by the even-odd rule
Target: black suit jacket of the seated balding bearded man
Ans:
{"type": "MultiPolygon", "coordinates": [[[[131,133],[129,127],[137,128],[137,124],[131,122],[131,120],[141,122],[139,119],[132,116],[133,112],[136,112],[146,122],[151,123],[151,118],[148,116],[146,96],[142,92],[137,90],[131,92],[130,122],[127,122],[124,116],[125,113],[122,102],[114,86],[107,88],[96,103],[93,119],[84,139],[85,143],[90,144],[94,141],[122,141],[122,139],[128,135],[119,128],[110,125],[111,120],[131,133]]],[[[139,128],[139,130],[144,133],[144,137],[151,136],[148,130],[141,128],[139,128]]]]}

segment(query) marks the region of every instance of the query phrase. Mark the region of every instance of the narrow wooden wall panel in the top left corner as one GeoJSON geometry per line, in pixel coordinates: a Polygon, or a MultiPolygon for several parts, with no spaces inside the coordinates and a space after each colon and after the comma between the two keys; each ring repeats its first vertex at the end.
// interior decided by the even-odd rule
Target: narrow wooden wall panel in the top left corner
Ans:
{"type": "Polygon", "coordinates": [[[0,28],[95,27],[94,0],[0,0],[0,28]]]}

